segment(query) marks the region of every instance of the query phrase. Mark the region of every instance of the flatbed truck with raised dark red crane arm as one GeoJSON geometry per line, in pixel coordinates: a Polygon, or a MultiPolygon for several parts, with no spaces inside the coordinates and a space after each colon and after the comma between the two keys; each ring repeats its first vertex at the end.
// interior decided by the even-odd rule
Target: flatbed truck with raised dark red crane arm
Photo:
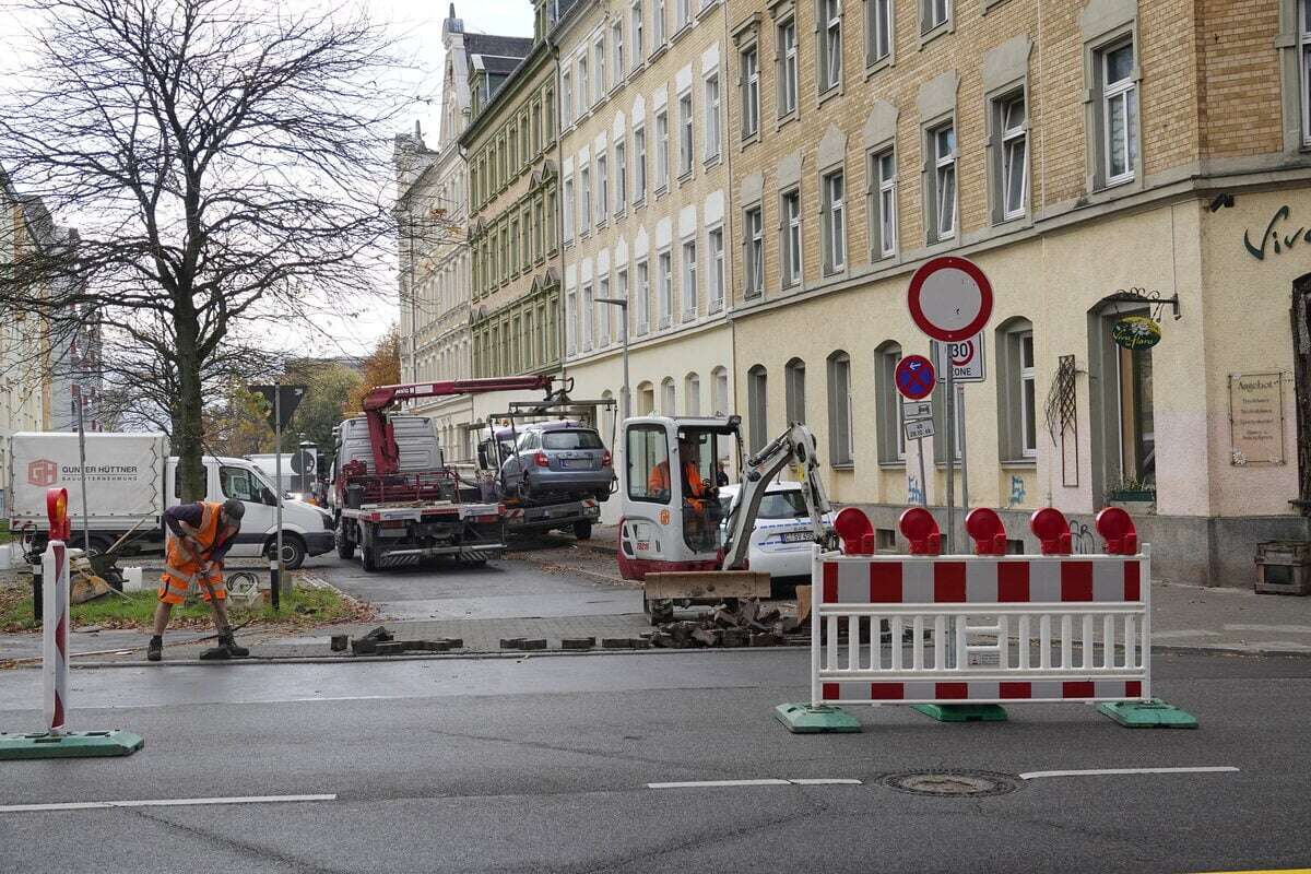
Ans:
{"type": "Polygon", "coordinates": [[[447,557],[471,565],[501,558],[506,549],[505,504],[484,494],[442,457],[426,417],[393,418],[401,401],[486,392],[544,390],[545,402],[564,393],[551,376],[446,380],[380,385],[363,402],[363,414],[336,430],[333,490],[329,497],[337,554],[358,549],[366,571],[417,565],[447,557]],[[397,439],[400,430],[400,439],[397,439]]]}

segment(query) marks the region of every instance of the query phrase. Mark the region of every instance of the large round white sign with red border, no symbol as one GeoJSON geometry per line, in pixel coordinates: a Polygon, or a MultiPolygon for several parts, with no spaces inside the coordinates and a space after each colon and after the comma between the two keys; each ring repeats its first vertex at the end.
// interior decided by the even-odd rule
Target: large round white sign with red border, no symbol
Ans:
{"type": "Polygon", "coordinates": [[[950,342],[983,330],[992,314],[992,286],[969,258],[941,256],[915,271],[906,301],[922,332],[950,342]]]}

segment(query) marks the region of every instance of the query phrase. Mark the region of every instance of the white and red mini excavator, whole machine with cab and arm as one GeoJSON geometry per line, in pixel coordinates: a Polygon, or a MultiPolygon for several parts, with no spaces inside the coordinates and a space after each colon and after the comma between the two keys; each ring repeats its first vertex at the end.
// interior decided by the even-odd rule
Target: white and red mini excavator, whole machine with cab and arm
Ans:
{"type": "Polygon", "coordinates": [[[747,549],[766,489],[789,465],[801,481],[815,542],[836,546],[836,536],[825,524],[831,506],[810,428],[792,423],[743,461],[741,426],[738,415],[624,421],[619,570],[624,579],[642,580],[648,611],[665,600],[688,605],[768,598],[770,575],[747,569],[747,549]],[[735,447],[742,469],[726,519],[711,485],[722,443],[735,447]]]}

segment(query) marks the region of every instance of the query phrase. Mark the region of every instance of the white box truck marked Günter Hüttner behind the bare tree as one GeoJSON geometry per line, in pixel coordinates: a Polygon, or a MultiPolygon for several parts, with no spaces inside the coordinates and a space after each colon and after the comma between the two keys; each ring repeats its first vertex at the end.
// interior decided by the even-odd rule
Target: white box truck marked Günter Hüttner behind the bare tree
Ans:
{"type": "MultiPolygon", "coordinates": [[[[83,501],[77,435],[20,431],[9,438],[9,528],[30,531],[45,548],[46,490],[68,489],[73,542],[81,545],[83,501]]],[[[87,528],[92,549],[108,549],[140,523],[132,552],[161,552],[164,510],[180,503],[177,459],[163,434],[87,434],[87,528]]],[[[206,501],[236,498],[245,504],[233,558],[271,556],[277,540],[277,498],[260,468],[245,459],[205,457],[206,501]]],[[[282,558],[299,567],[305,556],[333,549],[332,516],[312,504],[284,501],[282,558]]]]}

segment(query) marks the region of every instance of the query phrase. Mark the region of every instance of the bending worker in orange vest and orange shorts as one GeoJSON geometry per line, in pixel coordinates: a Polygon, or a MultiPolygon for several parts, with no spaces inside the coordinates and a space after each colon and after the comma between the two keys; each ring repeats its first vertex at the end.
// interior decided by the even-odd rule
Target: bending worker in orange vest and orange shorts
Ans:
{"type": "Polygon", "coordinates": [[[219,645],[201,653],[202,659],[232,659],[250,655],[250,650],[237,646],[228,625],[224,605],[227,590],[223,586],[223,558],[236,542],[241,531],[245,506],[236,498],[223,503],[197,501],[164,511],[169,529],[165,570],[160,577],[159,605],[155,608],[155,636],[146,650],[146,658],[159,662],[164,656],[164,629],[174,604],[181,604],[191,582],[199,583],[201,598],[214,609],[214,625],[219,632],[219,645]]]}

